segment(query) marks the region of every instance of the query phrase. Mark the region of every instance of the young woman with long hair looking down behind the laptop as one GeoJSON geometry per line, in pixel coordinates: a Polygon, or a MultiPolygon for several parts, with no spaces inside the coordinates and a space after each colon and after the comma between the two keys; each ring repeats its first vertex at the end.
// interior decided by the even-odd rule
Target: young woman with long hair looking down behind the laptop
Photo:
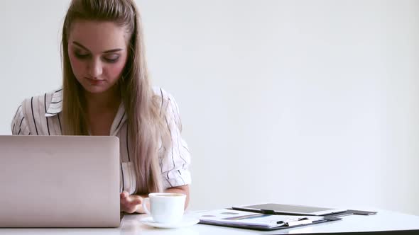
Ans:
{"type": "Polygon", "coordinates": [[[13,134],[119,137],[128,213],[142,213],[152,192],[185,193],[189,201],[178,106],[151,88],[144,55],[134,0],[72,0],[62,28],[62,88],[23,101],[11,124],[13,134]]]}

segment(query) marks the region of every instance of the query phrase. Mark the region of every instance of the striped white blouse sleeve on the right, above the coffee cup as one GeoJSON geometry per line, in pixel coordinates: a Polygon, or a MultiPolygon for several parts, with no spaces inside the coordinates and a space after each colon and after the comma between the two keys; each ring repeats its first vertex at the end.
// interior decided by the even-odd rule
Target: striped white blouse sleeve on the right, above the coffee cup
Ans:
{"type": "Polygon", "coordinates": [[[180,136],[182,124],[178,105],[173,96],[160,89],[162,108],[165,113],[164,122],[170,134],[168,149],[163,147],[160,151],[160,168],[163,178],[163,188],[172,188],[180,185],[189,185],[191,176],[190,151],[185,140],[180,136]]]}

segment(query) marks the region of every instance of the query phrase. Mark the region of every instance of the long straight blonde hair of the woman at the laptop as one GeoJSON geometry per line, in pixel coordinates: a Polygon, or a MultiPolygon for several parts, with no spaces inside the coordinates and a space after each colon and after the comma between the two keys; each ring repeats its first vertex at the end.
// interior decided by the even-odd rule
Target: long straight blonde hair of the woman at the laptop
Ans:
{"type": "MultiPolygon", "coordinates": [[[[162,189],[158,165],[158,138],[163,120],[153,93],[144,52],[141,16],[134,0],[72,0],[62,28],[62,123],[63,134],[87,135],[85,96],[72,72],[68,38],[75,20],[110,21],[126,29],[129,53],[118,86],[126,110],[129,139],[134,154],[136,193],[162,189]]],[[[163,138],[164,139],[164,138],[163,138]]],[[[167,144],[167,142],[166,142],[167,144]]]]}

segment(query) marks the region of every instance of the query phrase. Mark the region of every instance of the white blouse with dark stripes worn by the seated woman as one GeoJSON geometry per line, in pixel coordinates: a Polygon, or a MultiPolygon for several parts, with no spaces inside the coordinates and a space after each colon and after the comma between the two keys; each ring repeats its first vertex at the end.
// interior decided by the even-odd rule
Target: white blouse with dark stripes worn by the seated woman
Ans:
{"type": "MultiPolygon", "coordinates": [[[[163,178],[163,188],[172,188],[191,183],[190,152],[186,142],[180,137],[181,124],[179,108],[173,96],[161,88],[153,88],[161,96],[161,108],[165,109],[165,120],[170,132],[172,146],[159,148],[158,158],[163,178]]],[[[61,135],[62,89],[25,99],[18,107],[11,123],[12,134],[21,135],[61,135]]],[[[133,194],[136,190],[136,175],[131,161],[132,149],[129,147],[128,122],[123,103],[111,125],[110,135],[119,137],[121,159],[121,192],[133,194]]],[[[161,145],[161,142],[160,142],[161,145]]]]}

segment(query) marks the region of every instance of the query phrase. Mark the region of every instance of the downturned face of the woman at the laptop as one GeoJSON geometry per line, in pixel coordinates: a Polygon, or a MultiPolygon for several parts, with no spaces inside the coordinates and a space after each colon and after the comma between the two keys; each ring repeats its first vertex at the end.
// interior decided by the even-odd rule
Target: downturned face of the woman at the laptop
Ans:
{"type": "Polygon", "coordinates": [[[116,84],[126,64],[126,31],[112,22],[75,21],[68,38],[68,56],[77,81],[89,93],[116,84]]]}

